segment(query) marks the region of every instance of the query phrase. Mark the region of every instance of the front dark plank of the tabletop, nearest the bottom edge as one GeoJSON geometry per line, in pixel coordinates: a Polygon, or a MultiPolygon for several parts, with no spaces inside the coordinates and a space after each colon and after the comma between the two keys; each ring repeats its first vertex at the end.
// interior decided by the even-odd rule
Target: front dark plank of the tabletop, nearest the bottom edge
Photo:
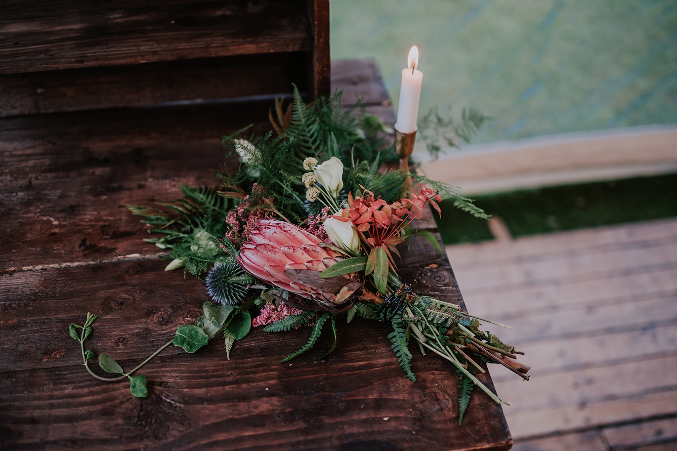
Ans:
{"type": "MultiPolygon", "coordinates": [[[[284,354],[288,346],[305,341],[305,334],[296,332],[296,338],[274,340],[264,348],[241,346],[230,361],[223,352],[160,358],[145,371],[152,381],[145,400],[132,398],[125,383],[102,385],[79,366],[9,373],[0,380],[2,445],[510,448],[508,436],[497,438],[496,431],[505,428],[502,417],[487,414],[481,394],[458,426],[456,388],[447,365],[418,359],[421,377],[411,383],[387,347],[365,348],[365,336],[355,331],[351,325],[343,346],[327,360],[315,360],[321,354],[312,352],[292,364],[274,363],[271,354],[284,354]]],[[[372,331],[385,338],[385,328],[372,331]]]]}

